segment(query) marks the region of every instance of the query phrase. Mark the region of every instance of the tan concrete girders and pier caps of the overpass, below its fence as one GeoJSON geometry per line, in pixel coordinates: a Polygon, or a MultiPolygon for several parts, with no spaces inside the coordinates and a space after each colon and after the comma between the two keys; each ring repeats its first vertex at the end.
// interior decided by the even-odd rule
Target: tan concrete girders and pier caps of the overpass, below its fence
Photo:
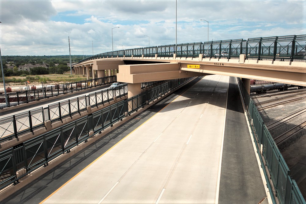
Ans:
{"type": "Polygon", "coordinates": [[[99,75],[101,70],[106,70],[106,74],[110,75],[112,72],[110,70],[114,70],[113,74],[119,72],[117,80],[126,83],[218,74],[306,86],[304,65],[304,62],[272,61],[271,63],[271,61],[245,60],[245,55],[241,55],[240,59],[202,58],[202,56],[101,58],[84,62],[77,67],[91,66],[93,71],[89,73],[93,77],[95,72],[99,75]],[[188,65],[198,65],[198,69],[188,68],[188,65]]]}

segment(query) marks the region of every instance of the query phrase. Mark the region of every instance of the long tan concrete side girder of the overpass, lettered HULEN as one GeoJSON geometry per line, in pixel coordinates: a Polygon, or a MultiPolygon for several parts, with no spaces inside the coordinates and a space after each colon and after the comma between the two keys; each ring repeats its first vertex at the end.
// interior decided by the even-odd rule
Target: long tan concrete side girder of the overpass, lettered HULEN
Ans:
{"type": "MultiPolygon", "coordinates": [[[[220,74],[226,76],[235,76],[247,79],[258,79],[258,80],[268,80],[279,83],[288,83],[299,86],[306,86],[306,69],[305,62],[297,61],[269,61],[269,60],[252,60],[245,59],[245,54],[241,54],[240,59],[238,58],[203,58],[203,56],[198,57],[117,57],[117,58],[104,58],[93,61],[84,62],[84,64],[94,64],[96,65],[96,70],[106,70],[116,68],[107,65],[118,65],[124,64],[126,60],[133,61],[152,61],[152,63],[165,63],[176,62],[181,65],[181,72],[198,72],[202,75],[208,74],[220,74]],[[187,64],[197,64],[200,65],[200,69],[189,69],[187,64]]],[[[80,65],[84,65],[80,64],[80,65]]],[[[77,66],[80,66],[77,65],[77,66]]],[[[117,68],[118,70],[118,68],[117,68]]],[[[109,75],[109,72],[106,73],[109,75]]],[[[156,73],[155,73],[156,74],[156,73]]],[[[121,71],[117,74],[121,75],[121,71]]],[[[121,76],[119,76],[120,79],[121,76]]],[[[132,76],[126,76],[132,81],[132,76]]],[[[153,78],[153,77],[151,77],[153,78]]],[[[170,78],[168,78],[170,79],[170,78]]],[[[158,80],[156,78],[155,80],[158,80]]]]}

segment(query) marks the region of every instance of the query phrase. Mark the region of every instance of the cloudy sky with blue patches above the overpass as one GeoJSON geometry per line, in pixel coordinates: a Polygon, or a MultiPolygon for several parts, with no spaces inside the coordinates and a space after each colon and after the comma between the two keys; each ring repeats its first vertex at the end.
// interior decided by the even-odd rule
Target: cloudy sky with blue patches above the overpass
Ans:
{"type": "MultiPolygon", "coordinates": [[[[2,55],[175,44],[175,0],[0,0],[2,55]],[[120,27],[120,28],[114,28],[120,27]],[[112,30],[112,28],[114,28],[112,30]],[[144,36],[147,35],[147,36],[144,36]]],[[[177,0],[177,43],[306,34],[306,0],[177,0]]],[[[93,51],[92,51],[93,50],[93,51]]]]}

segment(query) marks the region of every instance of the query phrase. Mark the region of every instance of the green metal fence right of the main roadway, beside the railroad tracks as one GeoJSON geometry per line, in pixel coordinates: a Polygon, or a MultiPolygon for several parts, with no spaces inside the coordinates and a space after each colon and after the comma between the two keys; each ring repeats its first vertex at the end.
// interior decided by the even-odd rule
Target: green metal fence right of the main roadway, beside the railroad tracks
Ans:
{"type": "MultiPolygon", "coordinates": [[[[279,203],[306,203],[299,187],[295,180],[290,176],[290,170],[278,150],[277,145],[274,142],[267,126],[263,123],[263,119],[260,117],[256,106],[253,104],[252,99],[245,90],[241,79],[238,79],[238,84],[243,95],[245,106],[247,107],[247,115],[250,124],[252,124],[252,133],[254,140],[262,146],[262,153],[267,166],[272,184],[274,186],[275,194],[278,198],[279,203]]],[[[256,144],[257,145],[257,144],[256,144]]],[[[260,148],[257,147],[257,151],[260,152],[260,148]]],[[[259,157],[261,157],[259,155],[259,157]]],[[[260,158],[261,159],[261,158],[260,158]]],[[[265,168],[264,166],[262,166],[265,168]]],[[[268,185],[270,181],[267,180],[268,185]]],[[[271,191],[270,191],[271,192],[271,191]]]]}

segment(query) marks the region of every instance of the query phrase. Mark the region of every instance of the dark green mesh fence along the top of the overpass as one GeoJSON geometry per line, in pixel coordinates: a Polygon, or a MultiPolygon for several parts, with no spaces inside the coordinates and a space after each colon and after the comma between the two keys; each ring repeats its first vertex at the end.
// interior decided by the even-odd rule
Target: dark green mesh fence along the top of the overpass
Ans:
{"type": "MultiPolygon", "coordinates": [[[[80,60],[78,64],[107,57],[199,57],[205,58],[238,58],[240,54],[246,54],[246,59],[253,60],[278,60],[278,61],[303,61],[306,62],[306,35],[287,35],[273,37],[259,37],[245,39],[218,40],[198,43],[184,43],[161,45],[151,47],[117,50],[80,60]],[[221,54],[222,52],[226,52],[221,54]],[[304,52],[304,54],[303,54],[304,52]]],[[[78,65],[76,64],[76,65],[78,65]]]]}

